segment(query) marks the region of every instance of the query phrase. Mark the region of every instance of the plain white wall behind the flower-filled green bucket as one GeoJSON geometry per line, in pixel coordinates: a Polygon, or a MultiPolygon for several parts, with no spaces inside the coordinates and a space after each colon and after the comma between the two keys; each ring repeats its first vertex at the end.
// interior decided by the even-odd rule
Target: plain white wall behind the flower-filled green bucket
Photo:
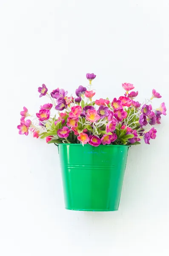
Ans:
{"type": "Polygon", "coordinates": [[[117,212],[65,210],[57,148],[18,135],[23,106],[48,102],[37,87],[71,93],[88,72],[98,98],[130,82],[169,108],[169,1],[0,1],[1,256],[169,255],[168,116],[130,148],[117,212]]]}

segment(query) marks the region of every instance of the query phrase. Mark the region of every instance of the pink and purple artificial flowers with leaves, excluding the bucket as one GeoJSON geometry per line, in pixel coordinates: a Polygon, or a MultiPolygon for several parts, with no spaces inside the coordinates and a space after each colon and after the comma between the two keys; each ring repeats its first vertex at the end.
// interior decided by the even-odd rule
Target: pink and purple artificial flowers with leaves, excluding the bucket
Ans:
{"type": "Polygon", "coordinates": [[[36,116],[23,107],[17,126],[19,134],[28,135],[30,131],[33,137],[46,138],[47,143],[89,143],[94,147],[100,144],[136,145],[142,138],[149,144],[155,139],[157,130],[153,125],[160,124],[161,116],[166,115],[164,102],[158,109],[151,105],[154,98],[161,98],[160,93],[153,89],[151,98],[140,104],[135,100],[138,91],[131,91],[135,88],[133,84],[124,83],[124,96],[93,100],[92,80],[96,75],[87,73],[86,78],[89,85],[80,85],[75,97],[59,88],[49,94],[46,85],[42,84],[38,88],[40,97],[47,96],[52,103],[40,106],[36,116]]]}

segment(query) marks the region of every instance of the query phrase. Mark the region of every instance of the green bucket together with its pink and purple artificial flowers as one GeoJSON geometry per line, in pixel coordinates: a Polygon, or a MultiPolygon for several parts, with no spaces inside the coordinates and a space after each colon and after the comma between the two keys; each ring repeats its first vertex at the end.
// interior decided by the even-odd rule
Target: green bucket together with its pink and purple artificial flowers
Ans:
{"type": "Polygon", "coordinates": [[[155,89],[143,104],[136,101],[138,91],[131,91],[135,87],[129,83],[122,84],[125,94],[118,99],[93,100],[96,75],[87,73],[86,78],[89,85],[80,85],[76,96],[59,88],[48,93],[42,84],[40,97],[51,102],[40,106],[36,116],[23,107],[17,128],[19,134],[30,131],[58,146],[66,209],[117,210],[128,149],[141,139],[146,144],[155,139],[153,125],[160,124],[166,106],[152,108],[152,100],[161,98],[155,89]]]}

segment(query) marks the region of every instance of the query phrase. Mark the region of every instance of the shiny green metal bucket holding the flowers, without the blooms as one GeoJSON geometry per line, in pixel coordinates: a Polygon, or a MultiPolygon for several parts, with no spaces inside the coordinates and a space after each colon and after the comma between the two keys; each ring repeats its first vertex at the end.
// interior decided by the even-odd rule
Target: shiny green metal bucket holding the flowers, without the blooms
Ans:
{"type": "Polygon", "coordinates": [[[65,208],[117,211],[129,146],[59,144],[65,208]]]}

